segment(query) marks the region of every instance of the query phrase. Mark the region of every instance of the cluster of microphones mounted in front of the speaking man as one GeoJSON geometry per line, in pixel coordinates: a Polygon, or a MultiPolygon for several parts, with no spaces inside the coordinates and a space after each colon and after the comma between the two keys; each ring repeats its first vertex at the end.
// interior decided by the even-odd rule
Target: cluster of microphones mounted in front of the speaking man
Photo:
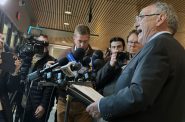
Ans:
{"type": "Polygon", "coordinates": [[[28,75],[28,80],[44,78],[46,81],[52,76],[57,77],[60,83],[64,77],[91,80],[94,74],[104,65],[103,52],[94,51],[93,55],[85,56],[85,50],[77,48],[73,53],[70,52],[66,57],[61,58],[56,63],[37,70],[28,75]]]}

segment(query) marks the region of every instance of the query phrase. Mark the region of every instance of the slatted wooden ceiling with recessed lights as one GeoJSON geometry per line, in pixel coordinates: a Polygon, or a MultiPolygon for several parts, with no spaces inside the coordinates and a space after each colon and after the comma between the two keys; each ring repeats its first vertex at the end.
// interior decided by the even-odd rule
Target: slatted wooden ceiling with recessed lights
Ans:
{"type": "MultiPolygon", "coordinates": [[[[157,0],[29,0],[35,25],[73,32],[77,24],[90,27],[91,44],[96,48],[106,49],[110,38],[120,36],[126,39],[133,29],[135,16],[141,8],[157,0]],[[90,3],[92,2],[92,21],[88,23],[90,3]],[[64,12],[71,11],[71,15],[64,12]],[[69,23],[69,26],[64,23],[69,23]]],[[[184,0],[162,0],[174,6],[180,18],[178,32],[185,33],[185,2],[184,0]],[[183,27],[183,28],[182,28],[183,27]]],[[[56,37],[57,38],[57,37],[56,37]]],[[[72,37],[60,37],[52,43],[72,44],[72,37]]]]}

